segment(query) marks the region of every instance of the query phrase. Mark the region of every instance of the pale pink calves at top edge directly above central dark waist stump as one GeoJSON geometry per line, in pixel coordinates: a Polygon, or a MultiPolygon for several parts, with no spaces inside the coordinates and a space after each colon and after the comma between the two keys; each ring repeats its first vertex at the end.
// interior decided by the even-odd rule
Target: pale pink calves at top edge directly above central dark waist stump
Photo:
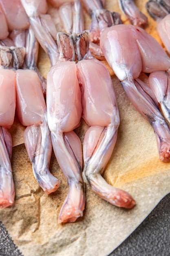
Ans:
{"type": "Polygon", "coordinates": [[[84,16],[79,0],[62,4],[59,15],[66,33],[79,33],[84,30],[84,16]]]}

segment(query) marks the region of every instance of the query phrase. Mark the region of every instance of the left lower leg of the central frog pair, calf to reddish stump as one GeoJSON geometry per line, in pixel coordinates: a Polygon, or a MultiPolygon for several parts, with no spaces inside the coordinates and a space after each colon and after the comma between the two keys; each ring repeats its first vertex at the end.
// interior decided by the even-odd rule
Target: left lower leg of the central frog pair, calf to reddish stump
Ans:
{"type": "Polygon", "coordinates": [[[85,207],[82,179],[82,145],[75,132],[51,132],[57,162],[68,182],[68,194],[63,202],[58,222],[75,222],[83,216],[85,207]]]}

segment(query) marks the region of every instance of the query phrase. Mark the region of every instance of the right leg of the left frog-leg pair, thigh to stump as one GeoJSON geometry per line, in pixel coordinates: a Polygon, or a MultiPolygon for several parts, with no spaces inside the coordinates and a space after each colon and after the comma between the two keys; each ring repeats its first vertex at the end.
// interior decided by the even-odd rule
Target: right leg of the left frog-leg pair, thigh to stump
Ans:
{"type": "Polygon", "coordinates": [[[35,180],[49,194],[57,190],[60,181],[49,171],[52,144],[42,88],[36,72],[17,70],[15,73],[18,119],[27,126],[24,143],[35,180]]]}

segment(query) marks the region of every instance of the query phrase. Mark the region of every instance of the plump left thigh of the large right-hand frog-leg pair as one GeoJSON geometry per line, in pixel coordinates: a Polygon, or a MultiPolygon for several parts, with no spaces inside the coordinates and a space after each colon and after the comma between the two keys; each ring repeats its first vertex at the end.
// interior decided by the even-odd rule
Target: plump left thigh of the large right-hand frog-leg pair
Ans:
{"type": "Polygon", "coordinates": [[[141,54],[128,25],[115,25],[102,31],[100,47],[120,81],[137,78],[142,70],[141,54]],[[125,42],[126,38],[126,43],[125,42]]]}

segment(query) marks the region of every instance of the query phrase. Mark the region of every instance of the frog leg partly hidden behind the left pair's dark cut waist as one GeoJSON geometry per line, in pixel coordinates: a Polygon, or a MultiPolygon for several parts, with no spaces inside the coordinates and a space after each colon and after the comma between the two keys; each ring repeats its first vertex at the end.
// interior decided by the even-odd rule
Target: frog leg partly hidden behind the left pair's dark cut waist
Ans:
{"type": "Polygon", "coordinates": [[[17,47],[25,47],[25,66],[24,68],[34,70],[37,72],[38,77],[40,79],[40,83],[42,86],[42,90],[44,95],[46,94],[46,79],[37,67],[37,60],[38,60],[38,48],[39,43],[38,40],[35,38],[35,34],[31,26],[29,26],[26,30],[13,30],[10,34],[10,38],[12,38],[15,46],[17,47]]]}

